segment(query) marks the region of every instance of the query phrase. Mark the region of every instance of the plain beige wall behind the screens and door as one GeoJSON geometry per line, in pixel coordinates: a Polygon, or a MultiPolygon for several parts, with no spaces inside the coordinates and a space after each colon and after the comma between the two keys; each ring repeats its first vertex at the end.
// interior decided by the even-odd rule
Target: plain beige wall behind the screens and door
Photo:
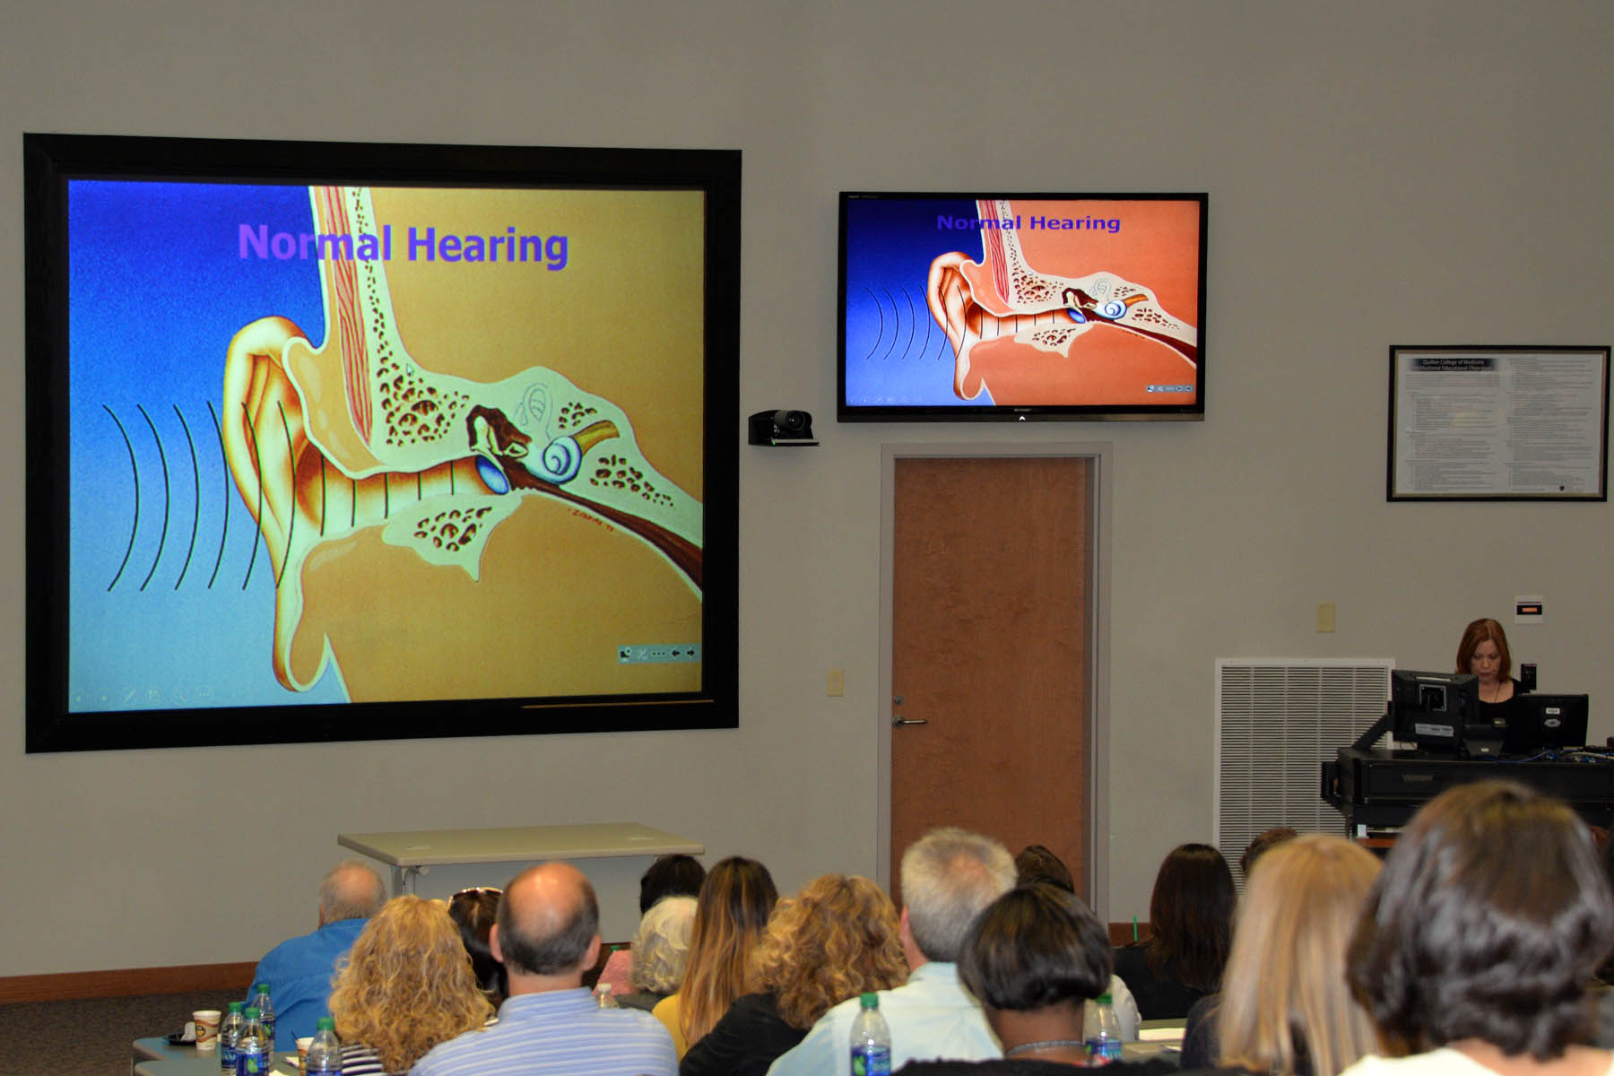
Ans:
{"type": "Polygon", "coordinates": [[[1207,421],[1012,431],[1112,445],[1110,918],[1210,836],[1220,655],[1441,668],[1540,592],[1516,650],[1614,732],[1609,507],[1383,498],[1388,344],[1614,339],[1604,0],[6,6],[0,974],[253,960],[339,829],[639,818],[784,887],[875,871],[881,447],[1007,434],[836,426],[843,187],[1210,192],[1207,421]],[[26,757],[23,131],[742,148],[741,410],[825,444],[742,448],[741,728],[26,757]],[[194,852],[231,842],[250,874],[194,852]]]}

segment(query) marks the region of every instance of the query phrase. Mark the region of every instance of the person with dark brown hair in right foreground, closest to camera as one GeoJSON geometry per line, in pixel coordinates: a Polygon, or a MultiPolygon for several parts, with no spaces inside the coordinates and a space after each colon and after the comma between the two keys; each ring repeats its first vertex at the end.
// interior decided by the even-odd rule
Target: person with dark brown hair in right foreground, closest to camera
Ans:
{"type": "Polygon", "coordinates": [[[1401,832],[1351,940],[1349,981],[1394,1060],[1346,1076],[1601,1076],[1587,982],[1614,905],[1585,824],[1520,784],[1462,784],[1401,832]]]}

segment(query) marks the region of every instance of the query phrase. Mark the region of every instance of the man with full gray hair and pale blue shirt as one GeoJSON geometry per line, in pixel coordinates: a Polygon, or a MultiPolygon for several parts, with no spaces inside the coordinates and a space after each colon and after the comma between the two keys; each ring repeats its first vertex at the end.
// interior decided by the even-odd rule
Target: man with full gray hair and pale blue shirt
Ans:
{"type": "MultiPolygon", "coordinates": [[[[899,936],[909,981],[880,991],[880,1011],[891,1028],[891,1071],[910,1060],[1002,1057],[954,961],[975,916],[1014,889],[1014,882],[1009,849],[965,829],[931,829],[902,853],[899,936]]],[[[796,1049],[773,1063],[768,1076],[844,1073],[859,1008],[855,997],[831,1008],[796,1049]]]]}

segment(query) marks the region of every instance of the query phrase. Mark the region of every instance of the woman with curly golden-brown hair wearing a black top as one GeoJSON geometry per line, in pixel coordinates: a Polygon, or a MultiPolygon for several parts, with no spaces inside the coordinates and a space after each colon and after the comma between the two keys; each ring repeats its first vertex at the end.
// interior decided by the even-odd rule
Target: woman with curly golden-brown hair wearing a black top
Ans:
{"type": "Polygon", "coordinates": [[[752,955],[757,992],[734,999],[678,1076],[762,1076],[831,1005],[901,986],[897,931],[891,899],[867,878],[825,874],[781,900],[752,955]]]}

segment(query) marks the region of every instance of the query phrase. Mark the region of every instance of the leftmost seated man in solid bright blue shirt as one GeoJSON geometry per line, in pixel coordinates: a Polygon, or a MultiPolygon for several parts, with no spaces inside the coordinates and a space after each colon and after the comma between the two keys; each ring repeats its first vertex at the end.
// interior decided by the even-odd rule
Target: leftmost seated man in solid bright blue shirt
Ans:
{"type": "Polygon", "coordinates": [[[331,1015],[326,1000],[336,961],[386,899],[387,887],[368,863],[342,860],[320,881],[318,929],[281,942],[258,961],[249,991],[258,982],[270,984],[276,1050],[295,1050],[297,1039],[312,1036],[320,1018],[331,1015]]]}

